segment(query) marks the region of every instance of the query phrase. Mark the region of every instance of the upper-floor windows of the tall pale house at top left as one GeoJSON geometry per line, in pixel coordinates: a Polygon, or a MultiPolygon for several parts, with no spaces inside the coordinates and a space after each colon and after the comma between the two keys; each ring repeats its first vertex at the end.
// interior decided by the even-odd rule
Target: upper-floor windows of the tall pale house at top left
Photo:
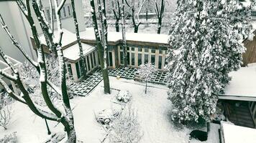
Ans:
{"type": "MultiPolygon", "coordinates": [[[[51,21],[51,11],[50,7],[45,8],[46,11],[46,17],[47,21],[51,21]]],[[[56,14],[55,14],[55,9],[52,9],[52,15],[53,15],[53,20],[56,20],[56,14]]],[[[65,4],[63,8],[60,10],[60,19],[65,19],[66,17],[73,16],[73,11],[71,9],[70,4],[65,4]]]]}

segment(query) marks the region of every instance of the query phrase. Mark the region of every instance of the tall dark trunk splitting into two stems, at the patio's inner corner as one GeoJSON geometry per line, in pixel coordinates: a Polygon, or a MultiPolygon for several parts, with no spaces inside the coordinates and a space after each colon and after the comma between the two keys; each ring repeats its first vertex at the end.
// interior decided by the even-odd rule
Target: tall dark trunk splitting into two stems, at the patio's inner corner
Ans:
{"type": "Polygon", "coordinates": [[[95,3],[94,0],[91,0],[91,16],[93,19],[93,29],[96,39],[96,45],[99,54],[99,61],[101,64],[102,76],[104,79],[104,92],[110,94],[110,86],[109,86],[109,73],[108,73],[108,64],[107,64],[107,31],[106,25],[104,24],[104,16],[101,9],[101,0],[98,0],[98,10],[99,10],[99,21],[101,24],[101,29],[99,29],[96,11],[95,11],[95,3]]]}

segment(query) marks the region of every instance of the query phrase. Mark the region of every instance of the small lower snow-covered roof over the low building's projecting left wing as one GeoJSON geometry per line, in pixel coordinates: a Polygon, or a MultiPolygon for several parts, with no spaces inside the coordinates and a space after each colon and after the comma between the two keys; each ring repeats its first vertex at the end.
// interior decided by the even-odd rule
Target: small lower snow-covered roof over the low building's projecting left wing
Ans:
{"type": "MultiPolygon", "coordinates": [[[[91,51],[96,49],[95,46],[91,46],[89,44],[84,44],[84,43],[82,43],[82,47],[83,47],[83,54],[84,55],[87,55],[87,54],[91,53],[91,51]]],[[[70,46],[70,47],[64,49],[63,50],[63,56],[66,59],[69,59],[69,60],[72,60],[72,61],[78,60],[80,58],[78,44],[74,44],[73,46],[70,46]]]]}

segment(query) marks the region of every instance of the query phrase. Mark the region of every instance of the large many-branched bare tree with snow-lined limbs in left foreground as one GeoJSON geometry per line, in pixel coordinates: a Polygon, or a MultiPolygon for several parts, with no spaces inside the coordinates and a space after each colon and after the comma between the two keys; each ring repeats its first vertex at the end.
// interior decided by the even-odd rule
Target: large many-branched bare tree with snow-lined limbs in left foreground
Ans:
{"type": "Polygon", "coordinates": [[[65,4],[65,0],[57,1],[54,0],[54,6],[55,6],[55,14],[57,19],[57,29],[58,29],[58,35],[54,34],[52,32],[52,29],[49,25],[49,23],[45,19],[45,13],[43,10],[43,6],[41,1],[36,0],[18,0],[17,5],[19,6],[19,9],[22,11],[24,17],[27,19],[29,26],[32,31],[32,38],[35,41],[36,51],[37,51],[37,61],[34,61],[28,54],[22,49],[21,44],[14,38],[14,36],[11,34],[11,31],[9,31],[8,26],[4,23],[4,19],[0,16],[0,24],[4,31],[6,31],[7,36],[12,40],[12,43],[14,46],[21,51],[22,55],[29,61],[33,66],[35,66],[35,69],[37,69],[38,73],[40,74],[39,82],[37,84],[40,84],[41,89],[41,96],[45,101],[45,104],[47,105],[47,109],[41,108],[40,106],[37,106],[35,102],[31,98],[31,94],[29,94],[26,87],[24,87],[24,84],[22,82],[20,72],[12,64],[12,61],[9,60],[9,58],[4,54],[3,51],[0,49],[0,56],[2,59],[4,59],[5,63],[9,66],[9,68],[12,70],[12,74],[6,73],[4,71],[0,70],[0,74],[6,79],[11,80],[15,84],[17,84],[17,87],[22,92],[21,96],[15,94],[12,89],[8,87],[6,82],[4,80],[0,79],[0,84],[4,87],[6,92],[9,94],[10,97],[13,99],[16,99],[18,102],[22,102],[23,104],[26,104],[29,109],[31,109],[32,112],[37,114],[37,116],[42,117],[44,119],[49,119],[55,122],[60,122],[63,124],[63,127],[65,128],[65,132],[68,136],[68,143],[76,143],[76,130],[74,127],[74,119],[73,119],[73,113],[72,109],[70,107],[70,101],[68,97],[68,91],[67,91],[67,85],[66,85],[66,78],[65,78],[65,63],[64,63],[64,57],[63,57],[63,49],[62,49],[62,36],[63,36],[63,30],[62,30],[62,24],[60,21],[60,10],[63,8],[65,4]],[[30,3],[31,2],[31,3],[30,3]],[[30,4],[32,5],[32,9],[30,9],[30,4]],[[37,19],[33,19],[32,17],[32,10],[35,12],[35,15],[37,16],[37,19]],[[35,21],[39,21],[40,28],[42,29],[42,33],[45,36],[45,40],[47,41],[47,46],[49,49],[53,49],[53,46],[57,49],[57,56],[58,56],[58,65],[59,65],[59,74],[60,79],[58,81],[60,82],[60,87],[56,86],[54,83],[52,83],[50,80],[47,79],[48,71],[47,66],[45,62],[45,51],[43,50],[41,41],[39,39],[38,33],[37,33],[37,27],[35,26],[35,21]],[[63,109],[59,109],[50,99],[50,95],[48,93],[48,88],[52,88],[56,93],[60,95],[62,98],[63,103],[63,109]]]}

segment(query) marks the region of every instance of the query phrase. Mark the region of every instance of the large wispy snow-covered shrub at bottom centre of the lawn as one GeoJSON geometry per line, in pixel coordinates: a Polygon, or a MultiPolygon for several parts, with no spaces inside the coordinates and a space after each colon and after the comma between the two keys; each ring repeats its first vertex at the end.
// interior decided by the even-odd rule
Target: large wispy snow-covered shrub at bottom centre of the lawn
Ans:
{"type": "Polygon", "coordinates": [[[127,104],[127,107],[112,122],[109,142],[137,143],[141,138],[142,130],[137,112],[132,108],[132,104],[127,104]]]}

